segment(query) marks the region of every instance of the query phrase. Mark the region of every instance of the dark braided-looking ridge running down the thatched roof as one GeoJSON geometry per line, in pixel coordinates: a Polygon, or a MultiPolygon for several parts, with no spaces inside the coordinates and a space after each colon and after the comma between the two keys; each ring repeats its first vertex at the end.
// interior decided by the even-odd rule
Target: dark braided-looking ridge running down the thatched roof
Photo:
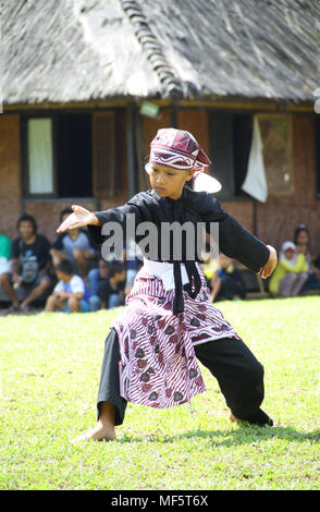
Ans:
{"type": "Polygon", "coordinates": [[[135,0],[121,0],[121,4],[133,24],[135,36],[145,50],[147,59],[164,87],[165,96],[174,99],[182,98],[182,84],[174,76],[173,69],[168,62],[159,40],[149,27],[140,5],[135,0]]]}

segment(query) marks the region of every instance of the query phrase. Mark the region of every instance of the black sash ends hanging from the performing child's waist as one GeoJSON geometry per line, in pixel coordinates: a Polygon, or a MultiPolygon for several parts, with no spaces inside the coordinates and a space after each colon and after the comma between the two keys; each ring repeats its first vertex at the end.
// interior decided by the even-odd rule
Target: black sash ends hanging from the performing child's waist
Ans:
{"type": "Polygon", "coordinates": [[[182,277],[181,277],[181,263],[174,261],[173,263],[173,277],[174,277],[174,285],[175,285],[175,296],[173,300],[173,315],[177,316],[180,313],[184,312],[184,298],[183,298],[183,290],[185,290],[192,298],[196,298],[200,289],[201,289],[201,279],[196,267],[195,261],[183,261],[187,271],[189,282],[183,287],[182,284],[182,277]],[[194,285],[192,278],[194,278],[194,285]]]}

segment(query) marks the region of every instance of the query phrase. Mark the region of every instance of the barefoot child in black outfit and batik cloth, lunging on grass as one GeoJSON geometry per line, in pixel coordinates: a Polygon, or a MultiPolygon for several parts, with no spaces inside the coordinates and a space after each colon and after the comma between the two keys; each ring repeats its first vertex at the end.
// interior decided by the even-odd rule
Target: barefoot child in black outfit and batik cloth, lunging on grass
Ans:
{"type": "Polygon", "coordinates": [[[224,254],[264,279],[272,273],[275,249],[221,208],[213,195],[221,185],[204,172],[210,163],[190,133],[159,130],[146,166],[150,190],[106,211],[90,212],[74,205],[73,214],[58,229],[63,232],[87,225],[95,242],[102,244],[101,227],[116,222],[125,230],[127,216],[134,215],[135,241],[144,254],[144,265],[126,296],[126,306],[111,324],[104,343],[97,424],[75,442],[115,439],[114,427],[123,423],[127,402],[165,409],[204,392],[197,359],[218,379],[232,420],[273,424],[260,409],[263,367],[211,303],[200,269],[202,260],[198,253],[189,257],[190,240],[171,237],[170,251],[162,257],[164,224],[188,222],[198,235],[204,225],[208,232],[212,223],[218,223],[224,254]],[[148,244],[158,248],[152,258],[138,229],[144,222],[156,229],[148,244]],[[179,256],[176,245],[181,249],[179,256]]]}

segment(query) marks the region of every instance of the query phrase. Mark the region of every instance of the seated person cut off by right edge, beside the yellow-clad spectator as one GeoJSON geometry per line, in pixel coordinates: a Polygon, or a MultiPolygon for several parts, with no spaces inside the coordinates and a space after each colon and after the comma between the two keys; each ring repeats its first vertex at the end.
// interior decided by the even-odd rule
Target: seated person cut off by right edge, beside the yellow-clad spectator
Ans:
{"type": "Polygon", "coordinates": [[[308,290],[320,290],[320,268],[317,267],[316,261],[310,255],[309,244],[310,235],[305,224],[299,224],[294,233],[294,243],[298,254],[304,254],[307,261],[308,279],[306,280],[301,292],[308,290]]]}

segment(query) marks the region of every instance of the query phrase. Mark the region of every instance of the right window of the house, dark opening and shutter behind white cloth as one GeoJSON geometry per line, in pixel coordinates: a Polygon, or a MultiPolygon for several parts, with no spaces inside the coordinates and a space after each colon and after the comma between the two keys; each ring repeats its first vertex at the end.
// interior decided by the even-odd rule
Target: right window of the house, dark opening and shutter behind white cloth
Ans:
{"type": "MultiPolygon", "coordinates": [[[[245,200],[250,196],[242,190],[245,181],[253,139],[253,112],[213,111],[209,113],[210,155],[212,173],[222,183],[217,194],[220,200],[245,200]]],[[[270,195],[291,195],[292,175],[292,118],[284,113],[258,113],[263,162],[270,195]]],[[[318,141],[319,141],[318,120],[318,141]]],[[[318,143],[318,169],[319,169],[318,143]]],[[[320,171],[318,170],[320,197],[320,171]]]]}

